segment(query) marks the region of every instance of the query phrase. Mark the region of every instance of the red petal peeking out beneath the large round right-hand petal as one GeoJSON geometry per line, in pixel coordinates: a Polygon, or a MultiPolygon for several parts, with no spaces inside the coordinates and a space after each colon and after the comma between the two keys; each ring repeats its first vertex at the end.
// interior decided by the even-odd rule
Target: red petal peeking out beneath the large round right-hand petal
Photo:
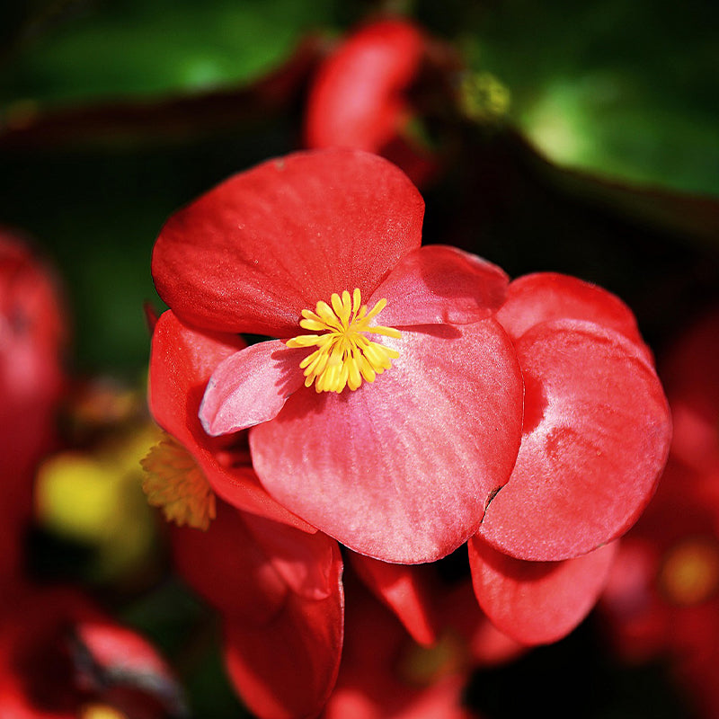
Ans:
{"type": "Polygon", "coordinates": [[[568,635],[599,599],[617,543],[564,562],[524,562],[481,537],[468,543],[480,607],[504,634],[522,644],[550,644],[568,635]]]}

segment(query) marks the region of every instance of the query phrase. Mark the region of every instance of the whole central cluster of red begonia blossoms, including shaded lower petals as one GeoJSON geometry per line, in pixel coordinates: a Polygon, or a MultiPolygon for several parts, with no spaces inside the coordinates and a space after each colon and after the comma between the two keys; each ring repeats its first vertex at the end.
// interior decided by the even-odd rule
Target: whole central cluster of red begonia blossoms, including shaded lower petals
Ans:
{"type": "Polygon", "coordinates": [[[262,717],[419,717],[432,697],[461,715],[469,668],[586,616],[666,461],[668,405],[631,311],[422,245],[422,215],[394,164],[326,149],[235,175],[155,244],[170,310],[149,401],[170,438],[146,468],[182,478],[169,515],[209,526],[178,530],[176,561],[262,717]],[[460,595],[432,573],[464,545],[463,623],[448,602],[466,608],[468,581],[460,595]],[[385,686],[358,669],[377,650],[370,620],[344,616],[355,580],[441,670],[395,664],[385,686]]]}

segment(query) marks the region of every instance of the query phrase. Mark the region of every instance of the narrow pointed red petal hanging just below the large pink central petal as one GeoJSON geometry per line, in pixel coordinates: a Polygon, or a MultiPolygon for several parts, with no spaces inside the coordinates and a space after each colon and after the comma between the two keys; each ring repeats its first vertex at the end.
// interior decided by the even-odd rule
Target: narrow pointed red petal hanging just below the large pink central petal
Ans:
{"type": "Polygon", "coordinates": [[[415,642],[435,641],[430,587],[426,575],[420,573],[424,567],[387,564],[355,552],[350,553],[350,560],[368,589],[395,612],[415,642]]]}

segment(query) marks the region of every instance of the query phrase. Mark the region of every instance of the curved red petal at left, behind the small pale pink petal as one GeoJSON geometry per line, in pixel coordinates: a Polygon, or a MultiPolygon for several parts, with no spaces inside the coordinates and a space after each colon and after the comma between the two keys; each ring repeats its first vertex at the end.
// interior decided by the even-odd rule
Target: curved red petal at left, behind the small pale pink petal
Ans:
{"type": "Polygon", "coordinates": [[[191,454],[212,489],[226,502],[314,532],[262,488],[250,466],[246,445],[242,451],[243,438],[212,439],[200,425],[198,412],[210,375],[223,359],[243,347],[244,341],[236,335],[201,333],[183,324],[172,311],[165,312],[152,336],[150,410],[155,422],[191,454]],[[235,445],[240,446],[239,451],[235,445]]]}

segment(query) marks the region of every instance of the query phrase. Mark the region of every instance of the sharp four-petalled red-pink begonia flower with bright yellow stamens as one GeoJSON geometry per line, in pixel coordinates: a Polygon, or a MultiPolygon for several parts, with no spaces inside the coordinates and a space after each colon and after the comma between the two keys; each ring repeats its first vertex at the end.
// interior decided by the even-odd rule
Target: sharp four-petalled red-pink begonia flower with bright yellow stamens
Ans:
{"type": "Polygon", "coordinates": [[[522,413],[517,359],[492,316],[506,277],[453,248],[420,248],[422,210],[377,156],[298,153],[178,212],[153,257],[183,321],[280,338],[219,365],[205,429],[252,427],[274,499],[361,554],[403,563],[475,533],[510,475],[522,413]],[[311,334],[324,330],[335,334],[311,334]]]}

